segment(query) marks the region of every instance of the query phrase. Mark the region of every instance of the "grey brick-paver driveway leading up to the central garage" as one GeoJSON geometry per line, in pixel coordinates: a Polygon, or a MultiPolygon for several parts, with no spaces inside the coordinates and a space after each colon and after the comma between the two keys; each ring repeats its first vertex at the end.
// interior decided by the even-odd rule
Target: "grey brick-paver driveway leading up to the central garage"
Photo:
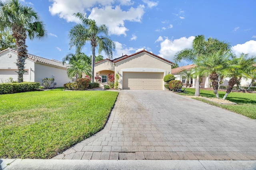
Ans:
{"type": "Polygon", "coordinates": [[[121,90],[108,123],[55,159],[256,160],[256,120],[164,90],[121,90]]]}

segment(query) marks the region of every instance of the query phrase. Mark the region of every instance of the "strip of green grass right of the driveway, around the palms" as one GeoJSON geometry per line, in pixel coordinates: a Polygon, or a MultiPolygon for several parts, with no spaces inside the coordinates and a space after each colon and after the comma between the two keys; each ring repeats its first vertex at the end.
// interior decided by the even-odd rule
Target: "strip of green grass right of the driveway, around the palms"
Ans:
{"type": "MultiPolygon", "coordinates": [[[[220,98],[223,98],[226,92],[218,91],[220,98]]],[[[195,89],[187,88],[186,93],[178,93],[180,95],[189,95],[194,96],[195,89]]],[[[216,98],[213,90],[201,90],[200,89],[200,96],[204,96],[207,98],[216,98]]],[[[238,92],[231,92],[228,94],[226,100],[231,102],[237,103],[236,105],[224,105],[224,104],[216,104],[214,102],[210,102],[208,100],[204,100],[202,98],[194,98],[196,100],[200,100],[202,102],[206,102],[208,104],[218,106],[241,115],[250,117],[251,119],[256,119],[256,93],[238,93],[238,92]]]]}

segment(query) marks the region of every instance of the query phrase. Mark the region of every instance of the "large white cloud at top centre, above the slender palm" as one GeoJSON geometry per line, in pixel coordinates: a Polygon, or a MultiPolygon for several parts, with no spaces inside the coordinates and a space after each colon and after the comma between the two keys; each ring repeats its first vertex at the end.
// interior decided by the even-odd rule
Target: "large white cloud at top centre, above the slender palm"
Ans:
{"type": "Polygon", "coordinates": [[[133,5],[132,0],[50,0],[49,11],[52,15],[58,15],[67,22],[80,21],[73,14],[77,12],[86,13],[90,19],[94,19],[98,25],[108,26],[110,34],[126,35],[129,29],[125,27],[124,21],[140,22],[144,15],[144,5],[136,8],[130,7],[122,10],[121,5],[133,5]],[[116,6],[112,6],[117,4],[116,6]]]}

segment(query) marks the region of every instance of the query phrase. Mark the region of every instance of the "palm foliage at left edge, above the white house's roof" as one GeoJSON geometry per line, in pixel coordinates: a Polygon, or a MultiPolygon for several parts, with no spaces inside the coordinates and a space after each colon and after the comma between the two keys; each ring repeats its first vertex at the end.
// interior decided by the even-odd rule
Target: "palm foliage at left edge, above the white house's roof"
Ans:
{"type": "Polygon", "coordinates": [[[0,51],[8,47],[15,49],[15,39],[12,37],[12,33],[8,29],[5,29],[4,31],[0,31],[0,51]]]}

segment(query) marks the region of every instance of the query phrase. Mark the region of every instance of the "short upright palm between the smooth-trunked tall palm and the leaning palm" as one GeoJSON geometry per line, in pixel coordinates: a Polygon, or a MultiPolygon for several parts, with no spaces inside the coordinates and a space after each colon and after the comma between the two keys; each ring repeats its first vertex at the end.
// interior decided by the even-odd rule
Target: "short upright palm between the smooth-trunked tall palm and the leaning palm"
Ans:
{"type": "Polygon", "coordinates": [[[209,76],[212,80],[212,88],[216,98],[218,95],[218,84],[220,76],[228,76],[230,65],[230,51],[218,51],[216,53],[210,53],[207,55],[200,55],[196,60],[195,64],[200,69],[200,73],[205,76],[209,76]]]}

